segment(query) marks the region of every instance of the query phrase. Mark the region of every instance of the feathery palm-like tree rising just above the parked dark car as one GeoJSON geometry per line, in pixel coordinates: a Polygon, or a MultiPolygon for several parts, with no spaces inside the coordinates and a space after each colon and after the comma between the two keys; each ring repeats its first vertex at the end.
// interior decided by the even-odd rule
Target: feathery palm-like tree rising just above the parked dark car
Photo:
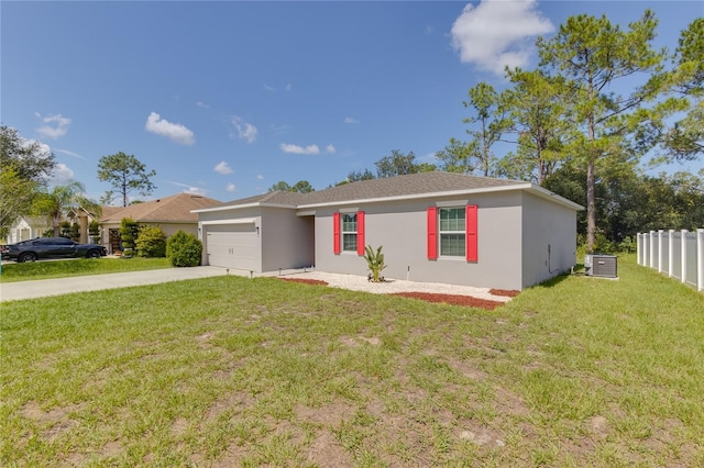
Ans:
{"type": "Polygon", "coordinates": [[[54,227],[54,236],[58,236],[62,218],[69,210],[82,207],[86,210],[100,213],[98,203],[88,199],[85,191],[86,188],[78,181],[54,186],[52,190],[40,192],[34,200],[33,212],[46,215],[54,227]]]}

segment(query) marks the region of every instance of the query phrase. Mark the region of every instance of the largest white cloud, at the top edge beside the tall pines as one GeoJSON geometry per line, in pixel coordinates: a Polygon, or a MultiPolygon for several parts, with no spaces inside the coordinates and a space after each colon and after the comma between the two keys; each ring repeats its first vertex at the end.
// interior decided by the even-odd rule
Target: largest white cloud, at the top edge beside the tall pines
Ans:
{"type": "Polygon", "coordinates": [[[525,67],[534,38],[554,31],[536,0],[482,0],[469,3],[452,25],[452,46],[460,60],[504,76],[504,68],[525,67]]]}

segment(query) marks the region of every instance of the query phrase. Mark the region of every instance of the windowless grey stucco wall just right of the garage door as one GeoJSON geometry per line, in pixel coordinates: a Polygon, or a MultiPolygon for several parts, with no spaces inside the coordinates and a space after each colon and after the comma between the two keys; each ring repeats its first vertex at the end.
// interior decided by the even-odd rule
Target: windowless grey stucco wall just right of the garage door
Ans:
{"type": "Polygon", "coordinates": [[[315,264],[312,216],[297,216],[296,210],[262,208],[262,271],[304,268],[315,264]]]}

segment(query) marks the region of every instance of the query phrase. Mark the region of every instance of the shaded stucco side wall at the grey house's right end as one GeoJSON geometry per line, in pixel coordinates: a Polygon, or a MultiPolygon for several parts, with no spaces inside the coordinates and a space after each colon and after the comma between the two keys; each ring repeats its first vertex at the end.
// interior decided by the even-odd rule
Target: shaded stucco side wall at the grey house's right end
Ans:
{"type": "Polygon", "coordinates": [[[576,212],[531,193],[522,201],[522,286],[569,270],[576,261],[576,212]]]}

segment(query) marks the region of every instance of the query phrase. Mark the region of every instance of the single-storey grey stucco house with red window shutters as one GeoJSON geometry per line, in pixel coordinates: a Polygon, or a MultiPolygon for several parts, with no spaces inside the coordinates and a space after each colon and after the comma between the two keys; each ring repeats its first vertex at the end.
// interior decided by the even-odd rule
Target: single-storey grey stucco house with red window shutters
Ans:
{"type": "Polygon", "coordinates": [[[204,265],[366,275],[372,245],[386,278],[521,290],[575,264],[579,210],[529,182],[433,171],[196,212],[204,265]]]}

